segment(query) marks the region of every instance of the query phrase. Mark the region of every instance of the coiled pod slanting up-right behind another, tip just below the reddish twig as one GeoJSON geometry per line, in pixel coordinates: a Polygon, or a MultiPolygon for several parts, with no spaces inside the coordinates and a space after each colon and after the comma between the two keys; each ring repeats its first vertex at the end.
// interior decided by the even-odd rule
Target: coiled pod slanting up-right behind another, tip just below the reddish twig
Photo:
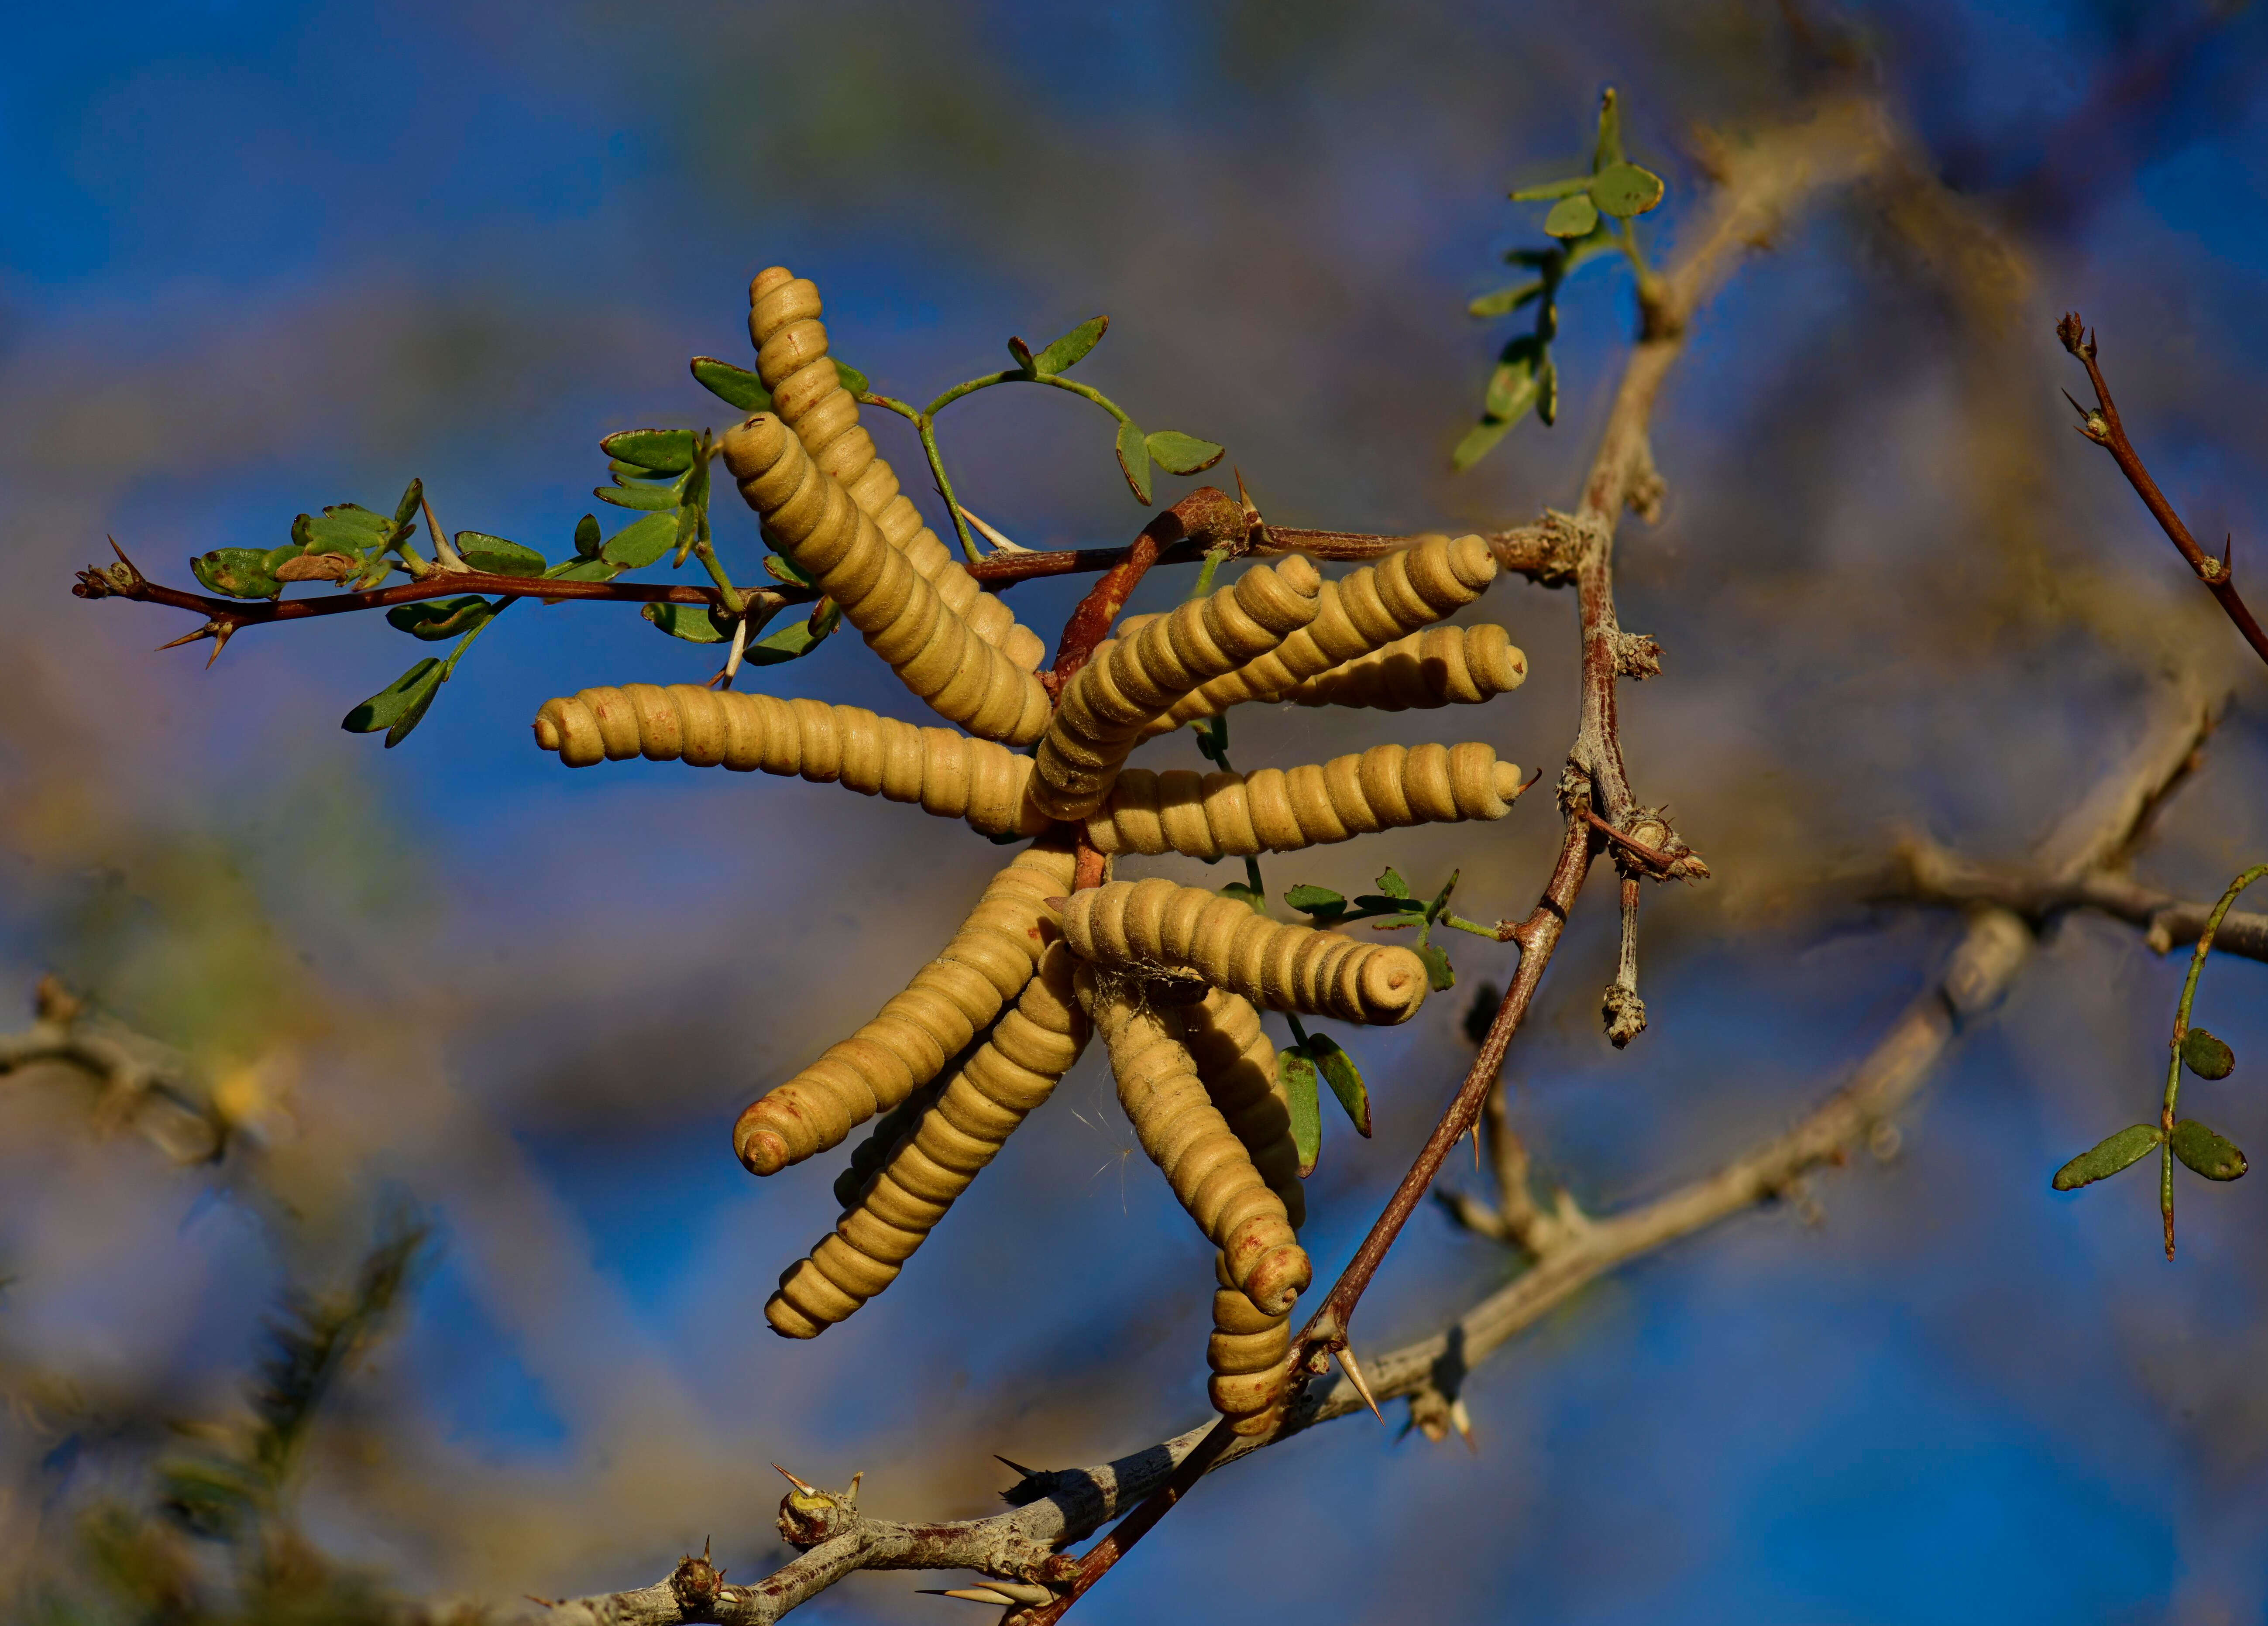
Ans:
{"type": "MultiPolygon", "coordinates": [[[[1161,735],[1200,717],[1216,717],[1245,701],[1277,701],[1320,671],[1359,660],[1406,633],[1456,615],[1497,578],[1497,556],[1476,535],[1429,537],[1377,565],[1325,583],[1315,619],[1277,649],[1213,678],[1195,694],[1143,726],[1161,735]]],[[[1125,633],[1139,633],[1129,619],[1125,633]]],[[[1123,635],[1125,635],[1123,633],[1123,635]]]]}

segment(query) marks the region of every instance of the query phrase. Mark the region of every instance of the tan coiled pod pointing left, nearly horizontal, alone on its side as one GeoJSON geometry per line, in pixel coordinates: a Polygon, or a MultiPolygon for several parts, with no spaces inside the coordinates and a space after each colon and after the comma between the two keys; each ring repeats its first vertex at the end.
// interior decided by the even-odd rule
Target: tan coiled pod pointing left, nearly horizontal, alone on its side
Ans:
{"type": "Polygon", "coordinates": [[[535,744],[583,769],[644,755],[737,773],[801,773],[862,796],[921,803],[941,819],[966,819],[984,835],[1039,835],[1048,816],[1025,801],[1032,757],[950,728],[916,728],[857,705],[782,701],[694,683],[626,683],[544,701],[535,744]]]}

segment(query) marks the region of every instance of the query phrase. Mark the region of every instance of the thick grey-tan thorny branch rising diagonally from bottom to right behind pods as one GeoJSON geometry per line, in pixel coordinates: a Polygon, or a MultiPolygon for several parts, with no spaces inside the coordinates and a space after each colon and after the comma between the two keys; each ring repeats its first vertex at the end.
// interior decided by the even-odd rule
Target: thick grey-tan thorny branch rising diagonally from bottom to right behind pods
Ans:
{"type": "MultiPolygon", "coordinates": [[[[2116,862],[2159,794],[2182,776],[2209,726],[2211,708],[2195,689],[2164,694],[2136,751],[2048,837],[2043,873],[2077,880],[2116,862]]],[[[1932,986],[1889,1025],[1842,1089],[1787,1132],[1653,1202],[1581,1216],[1563,1200],[1549,1222],[1538,1222],[1542,1216],[1520,1206],[1522,1157],[1522,1195],[1508,1191],[1504,1213],[1524,1216],[1510,1240],[1533,1256],[1533,1265],[1431,1338],[1368,1361],[1372,1392],[1381,1401],[1408,1399],[1415,1417],[1436,1415],[1454,1406],[1481,1361],[1590,1281],[1789,1193],[1814,1168],[1848,1161],[1853,1147],[1914,1098],[1953,1041],[2000,1002],[2028,964],[2032,941],[2014,912],[1980,909],[1932,986]]],[[[1272,1440],[1238,1440],[1209,1467],[1359,1411],[1365,1406],[1349,1381],[1320,1383],[1272,1440]]],[[[1173,1485],[1211,1433],[1191,1429],[1114,1463],[1034,1474],[1009,1492],[1021,1506],[989,1519],[898,1524],[860,1515],[848,1497],[821,1497],[823,1506],[814,1508],[814,1499],[794,1494],[782,1506],[780,1531],[805,1551],[776,1574],[730,1585],[717,1581],[705,1560],[687,1558],[649,1587],[556,1603],[551,1621],[767,1626],[857,1569],[975,1569],[1002,1581],[1064,1585],[1077,1574],[1077,1560],[1059,1549],[1173,1485]]]]}

